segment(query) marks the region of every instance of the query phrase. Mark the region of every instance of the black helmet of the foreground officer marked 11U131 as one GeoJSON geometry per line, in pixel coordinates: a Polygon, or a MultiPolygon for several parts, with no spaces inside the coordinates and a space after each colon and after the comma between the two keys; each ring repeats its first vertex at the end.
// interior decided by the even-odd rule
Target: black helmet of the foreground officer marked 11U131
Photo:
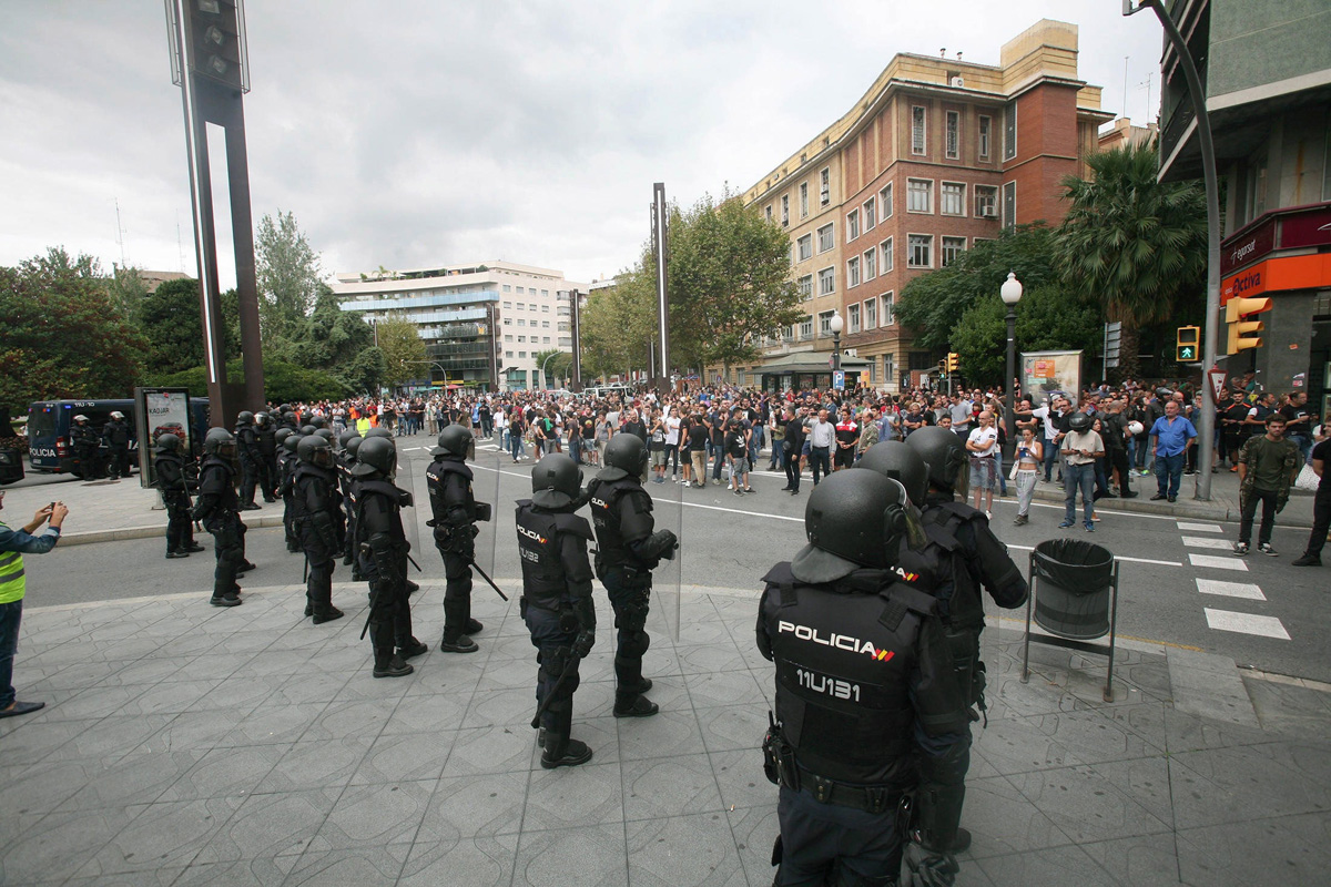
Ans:
{"type": "Polygon", "coordinates": [[[839,471],[809,495],[804,508],[809,544],[791,569],[803,582],[831,582],[861,567],[889,568],[910,521],[910,500],[898,481],[876,471],[839,471]]]}

